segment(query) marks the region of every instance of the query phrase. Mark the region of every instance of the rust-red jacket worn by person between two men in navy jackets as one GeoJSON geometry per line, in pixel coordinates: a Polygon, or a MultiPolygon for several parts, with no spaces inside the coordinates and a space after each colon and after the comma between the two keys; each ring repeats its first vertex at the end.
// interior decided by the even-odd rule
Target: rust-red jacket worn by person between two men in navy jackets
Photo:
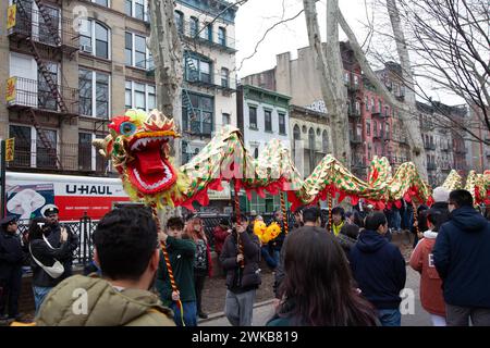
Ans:
{"type": "Polygon", "coordinates": [[[412,252],[411,266],[420,273],[420,301],[426,311],[445,316],[445,304],[442,296],[442,279],[433,264],[432,248],[437,233],[426,231],[415,250],[412,252]]]}

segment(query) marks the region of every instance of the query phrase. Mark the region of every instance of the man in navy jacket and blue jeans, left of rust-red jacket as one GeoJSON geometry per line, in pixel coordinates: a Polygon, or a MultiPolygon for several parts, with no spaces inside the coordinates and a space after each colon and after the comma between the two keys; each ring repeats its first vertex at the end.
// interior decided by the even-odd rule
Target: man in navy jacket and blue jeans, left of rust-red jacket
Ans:
{"type": "Polygon", "coordinates": [[[388,221],[382,212],[366,216],[366,229],[351,250],[351,268],[362,295],[378,310],[383,326],[400,326],[400,291],[406,269],[400,249],[388,241],[388,221]]]}

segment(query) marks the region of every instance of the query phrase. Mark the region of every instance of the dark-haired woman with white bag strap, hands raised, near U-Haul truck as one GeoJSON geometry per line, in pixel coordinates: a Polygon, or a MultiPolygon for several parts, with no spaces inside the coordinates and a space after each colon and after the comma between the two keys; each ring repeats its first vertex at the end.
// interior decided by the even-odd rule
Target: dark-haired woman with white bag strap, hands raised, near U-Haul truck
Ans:
{"type": "MultiPolygon", "coordinates": [[[[57,260],[65,259],[71,252],[70,243],[66,241],[69,237],[66,231],[61,232],[59,248],[53,248],[49,243],[48,236],[50,231],[48,221],[45,217],[36,217],[30,222],[28,238],[29,252],[33,258],[33,291],[36,314],[48,293],[64,278],[63,274],[53,277],[39,263],[50,268],[57,260]]],[[[65,270],[63,273],[65,273],[65,270]]]]}

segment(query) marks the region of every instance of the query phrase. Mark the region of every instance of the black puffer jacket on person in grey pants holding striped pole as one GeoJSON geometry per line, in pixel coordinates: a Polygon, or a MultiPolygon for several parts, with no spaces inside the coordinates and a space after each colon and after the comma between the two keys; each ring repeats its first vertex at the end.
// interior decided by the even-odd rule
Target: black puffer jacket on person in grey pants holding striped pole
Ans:
{"type": "Polygon", "coordinates": [[[244,263],[242,269],[236,262],[238,254],[237,234],[233,232],[224,240],[221,251],[220,261],[226,271],[226,287],[233,293],[245,293],[257,288],[260,283],[260,241],[258,237],[250,231],[246,231],[240,235],[243,244],[244,263]]]}

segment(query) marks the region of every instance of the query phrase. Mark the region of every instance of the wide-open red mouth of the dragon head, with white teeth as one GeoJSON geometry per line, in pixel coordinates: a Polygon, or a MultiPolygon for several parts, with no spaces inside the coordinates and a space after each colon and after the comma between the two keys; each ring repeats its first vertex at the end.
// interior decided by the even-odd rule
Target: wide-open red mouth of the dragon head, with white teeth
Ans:
{"type": "Polygon", "coordinates": [[[130,182],[144,195],[166,190],[176,181],[175,171],[163,150],[168,141],[168,137],[145,134],[128,145],[134,158],[127,163],[130,182]]]}

